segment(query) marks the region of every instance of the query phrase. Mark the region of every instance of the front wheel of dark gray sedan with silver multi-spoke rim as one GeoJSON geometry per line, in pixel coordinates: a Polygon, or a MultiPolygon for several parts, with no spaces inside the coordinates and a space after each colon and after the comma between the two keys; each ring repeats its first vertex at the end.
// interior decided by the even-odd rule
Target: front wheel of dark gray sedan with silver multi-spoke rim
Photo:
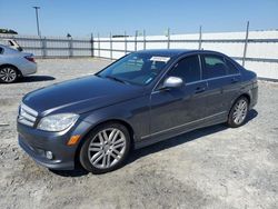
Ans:
{"type": "Polygon", "coordinates": [[[120,123],[105,123],[93,129],[80,149],[82,167],[96,175],[116,170],[128,157],[130,135],[120,123]]]}

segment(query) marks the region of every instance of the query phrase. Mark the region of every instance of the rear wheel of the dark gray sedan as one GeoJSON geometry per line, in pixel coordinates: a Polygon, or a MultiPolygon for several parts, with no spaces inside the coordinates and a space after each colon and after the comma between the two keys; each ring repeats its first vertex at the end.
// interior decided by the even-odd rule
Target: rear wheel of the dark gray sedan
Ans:
{"type": "Polygon", "coordinates": [[[236,100],[230,109],[228,117],[228,126],[231,128],[240,127],[245,123],[249,111],[249,101],[246,97],[240,97],[236,100]]]}

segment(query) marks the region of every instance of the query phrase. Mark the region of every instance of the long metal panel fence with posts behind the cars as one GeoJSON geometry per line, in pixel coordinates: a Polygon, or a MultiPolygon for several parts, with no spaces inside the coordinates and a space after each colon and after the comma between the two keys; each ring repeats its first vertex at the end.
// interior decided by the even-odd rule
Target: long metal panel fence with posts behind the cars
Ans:
{"type": "Polygon", "coordinates": [[[142,49],[209,49],[221,51],[241,64],[257,71],[260,77],[278,79],[278,31],[249,31],[138,36],[82,39],[57,37],[30,37],[0,34],[1,39],[14,39],[24,51],[38,58],[99,57],[118,59],[142,49]],[[256,62],[256,63],[254,63],[256,62]],[[267,68],[262,69],[262,68],[267,68]],[[262,71],[264,70],[264,71],[262,71]]]}

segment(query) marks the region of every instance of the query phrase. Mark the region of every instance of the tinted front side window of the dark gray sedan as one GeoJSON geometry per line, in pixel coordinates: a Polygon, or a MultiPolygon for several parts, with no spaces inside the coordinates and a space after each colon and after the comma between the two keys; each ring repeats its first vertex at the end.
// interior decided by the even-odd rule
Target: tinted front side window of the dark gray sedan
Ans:
{"type": "Polygon", "coordinates": [[[190,56],[180,60],[168,73],[171,77],[180,77],[186,82],[200,80],[200,64],[198,56],[190,56]]]}

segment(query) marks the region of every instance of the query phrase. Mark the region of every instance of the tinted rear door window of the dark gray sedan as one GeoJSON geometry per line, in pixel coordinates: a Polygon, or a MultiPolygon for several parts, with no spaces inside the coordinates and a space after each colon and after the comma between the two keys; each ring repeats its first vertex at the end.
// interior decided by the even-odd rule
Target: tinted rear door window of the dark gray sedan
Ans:
{"type": "Polygon", "coordinates": [[[225,60],[220,56],[203,56],[203,78],[216,78],[227,74],[225,60]]]}

